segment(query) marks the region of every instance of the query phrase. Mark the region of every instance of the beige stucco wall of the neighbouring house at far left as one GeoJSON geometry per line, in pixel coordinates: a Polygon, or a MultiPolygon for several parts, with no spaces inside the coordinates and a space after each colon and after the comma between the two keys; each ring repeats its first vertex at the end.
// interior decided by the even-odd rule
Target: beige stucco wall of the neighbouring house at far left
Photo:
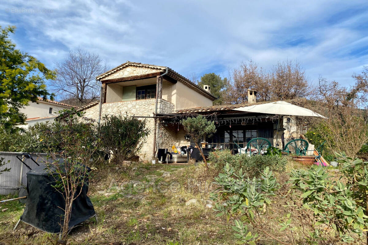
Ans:
{"type": "Polygon", "coordinates": [[[71,107],[57,105],[45,101],[29,102],[29,104],[20,109],[20,112],[24,113],[27,118],[44,118],[48,116],[57,116],[57,112],[63,109],[70,109],[71,107]],[[49,114],[49,108],[52,107],[52,114],[49,114]]]}

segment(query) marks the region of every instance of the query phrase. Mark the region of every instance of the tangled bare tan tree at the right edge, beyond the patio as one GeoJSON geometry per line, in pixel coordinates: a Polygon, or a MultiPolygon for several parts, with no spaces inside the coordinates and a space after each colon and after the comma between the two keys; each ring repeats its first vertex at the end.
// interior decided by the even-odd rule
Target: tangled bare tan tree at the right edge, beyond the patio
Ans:
{"type": "Polygon", "coordinates": [[[366,107],[367,93],[362,83],[356,81],[355,86],[347,89],[320,77],[315,101],[311,101],[312,109],[328,117],[314,122],[314,130],[326,140],[330,152],[345,152],[351,158],[368,141],[366,112],[362,109],[366,107]]]}

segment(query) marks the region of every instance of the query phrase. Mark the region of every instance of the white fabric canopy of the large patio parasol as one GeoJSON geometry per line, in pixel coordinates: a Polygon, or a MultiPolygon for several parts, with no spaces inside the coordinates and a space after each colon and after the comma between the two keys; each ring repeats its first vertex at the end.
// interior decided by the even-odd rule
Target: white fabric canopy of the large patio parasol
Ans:
{"type": "Polygon", "coordinates": [[[234,110],[244,112],[264,113],[264,114],[275,114],[275,115],[315,116],[320,118],[326,118],[325,116],[322,116],[317,112],[311,111],[304,107],[293,105],[285,101],[275,101],[259,105],[249,105],[234,110]]]}

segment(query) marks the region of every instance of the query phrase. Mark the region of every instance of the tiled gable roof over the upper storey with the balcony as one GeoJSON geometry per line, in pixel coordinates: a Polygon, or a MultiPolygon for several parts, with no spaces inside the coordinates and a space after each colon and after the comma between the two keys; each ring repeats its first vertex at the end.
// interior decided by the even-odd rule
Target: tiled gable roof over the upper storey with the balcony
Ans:
{"type": "Polygon", "coordinates": [[[138,63],[138,62],[127,61],[127,62],[111,69],[110,71],[102,73],[101,75],[97,76],[96,79],[100,80],[100,79],[106,78],[107,76],[110,76],[111,74],[113,74],[117,71],[120,71],[121,69],[124,69],[127,66],[146,67],[146,68],[156,69],[158,71],[164,71],[165,69],[168,69],[169,72],[168,72],[167,75],[169,75],[169,76],[171,76],[171,77],[173,77],[177,80],[180,80],[180,82],[183,83],[184,85],[190,87],[191,89],[196,90],[198,93],[204,95],[205,97],[207,97],[211,100],[216,100],[217,99],[215,96],[213,96],[213,94],[208,93],[206,90],[204,90],[201,87],[197,86],[197,84],[193,83],[191,80],[185,78],[183,75],[180,75],[179,73],[177,73],[173,69],[171,69],[169,67],[166,67],[166,66],[142,64],[142,63],[138,63]]]}

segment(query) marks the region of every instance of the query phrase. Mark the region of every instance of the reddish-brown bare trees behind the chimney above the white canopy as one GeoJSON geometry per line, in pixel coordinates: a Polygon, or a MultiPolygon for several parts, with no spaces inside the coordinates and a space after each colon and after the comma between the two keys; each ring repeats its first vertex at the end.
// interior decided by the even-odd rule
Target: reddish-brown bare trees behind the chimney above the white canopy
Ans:
{"type": "Polygon", "coordinates": [[[265,71],[253,61],[231,70],[231,81],[224,96],[231,104],[248,101],[248,89],[256,90],[258,101],[288,100],[308,96],[311,86],[298,62],[278,62],[265,71]]]}

